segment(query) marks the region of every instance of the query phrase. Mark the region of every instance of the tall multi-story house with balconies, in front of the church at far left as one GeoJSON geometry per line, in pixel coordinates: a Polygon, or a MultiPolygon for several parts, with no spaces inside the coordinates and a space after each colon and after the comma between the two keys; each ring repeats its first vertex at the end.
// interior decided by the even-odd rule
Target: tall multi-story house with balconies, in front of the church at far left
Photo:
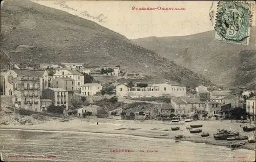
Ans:
{"type": "Polygon", "coordinates": [[[17,76],[13,78],[13,105],[20,109],[41,111],[40,79],[37,76],[17,76]]]}

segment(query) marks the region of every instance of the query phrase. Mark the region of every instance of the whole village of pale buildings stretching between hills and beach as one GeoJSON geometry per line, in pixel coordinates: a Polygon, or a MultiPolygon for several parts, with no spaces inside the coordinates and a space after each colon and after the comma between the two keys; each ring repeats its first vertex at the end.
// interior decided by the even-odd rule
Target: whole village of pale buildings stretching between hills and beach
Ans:
{"type": "Polygon", "coordinates": [[[188,93],[185,85],[172,80],[133,82],[143,76],[119,65],[87,68],[82,63],[60,63],[20,69],[10,62],[1,77],[1,101],[19,110],[89,119],[255,120],[253,90],[199,85],[188,93]],[[122,104],[137,105],[130,109],[122,104]]]}

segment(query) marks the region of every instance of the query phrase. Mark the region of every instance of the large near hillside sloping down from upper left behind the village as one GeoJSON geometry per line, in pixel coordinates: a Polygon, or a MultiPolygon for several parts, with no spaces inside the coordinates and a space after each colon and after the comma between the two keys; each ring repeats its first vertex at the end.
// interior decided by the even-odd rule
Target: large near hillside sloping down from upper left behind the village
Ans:
{"type": "Polygon", "coordinates": [[[30,64],[121,65],[129,72],[158,77],[159,82],[172,80],[188,87],[207,82],[93,21],[29,1],[8,1],[2,5],[1,48],[10,52],[18,45],[33,46],[26,52],[9,54],[21,67],[37,58],[30,64]]]}

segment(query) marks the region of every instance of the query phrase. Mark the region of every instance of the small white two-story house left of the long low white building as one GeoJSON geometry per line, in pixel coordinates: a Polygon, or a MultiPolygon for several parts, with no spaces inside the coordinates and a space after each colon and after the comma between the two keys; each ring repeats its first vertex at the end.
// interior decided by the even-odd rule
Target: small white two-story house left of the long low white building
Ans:
{"type": "Polygon", "coordinates": [[[81,95],[94,96],[102,90],[102,86],[98,83],[87,83],[82,86],[81,95]]]}

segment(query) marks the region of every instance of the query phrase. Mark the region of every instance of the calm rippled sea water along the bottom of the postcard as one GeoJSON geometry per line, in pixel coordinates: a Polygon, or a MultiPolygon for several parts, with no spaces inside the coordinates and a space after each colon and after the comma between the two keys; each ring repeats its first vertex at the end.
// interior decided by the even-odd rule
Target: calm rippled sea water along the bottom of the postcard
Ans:
{"type": "Polygon", "coordinates": [[[253,161],[255,152],[120,134],[1,129],[5,161],[253,161]],[[133,152],[112,152],[126,149],[133,152]],[[144,151],[144,152],[142,152],[144,151]],[[151,152],[149,152],[151,151],[151,152]],[[20,157],[10,157],[20,155],[20,157]],[[30,155],[34,157],[25,157],[30,155]],[[44,157],[38,157],[45,155],[44,157]],[[8,157],[9,156],[9,157],[8,157]],[[46,158],[46,157],[49,158],[46,158]],[[50,157],[54,156],[54,157],[50,157]]]}

